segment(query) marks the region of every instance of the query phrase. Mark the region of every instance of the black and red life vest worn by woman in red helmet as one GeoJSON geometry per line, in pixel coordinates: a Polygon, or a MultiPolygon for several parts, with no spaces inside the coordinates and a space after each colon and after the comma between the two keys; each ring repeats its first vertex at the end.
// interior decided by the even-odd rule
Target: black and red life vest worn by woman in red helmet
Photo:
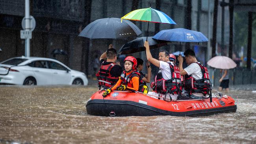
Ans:
{"type": "Polygon", "coordinates": [[[139,92],[144,92],[143,85],[145,85],[144,81],[142,80],[141,74],[137,70],[133,70],[129,75],[126,76],[126,71],[124,70],[121,74],[122,85],[127,85],[128,87],[133,87],[131,80],[133,77],[139,77],[139,92]]]}

